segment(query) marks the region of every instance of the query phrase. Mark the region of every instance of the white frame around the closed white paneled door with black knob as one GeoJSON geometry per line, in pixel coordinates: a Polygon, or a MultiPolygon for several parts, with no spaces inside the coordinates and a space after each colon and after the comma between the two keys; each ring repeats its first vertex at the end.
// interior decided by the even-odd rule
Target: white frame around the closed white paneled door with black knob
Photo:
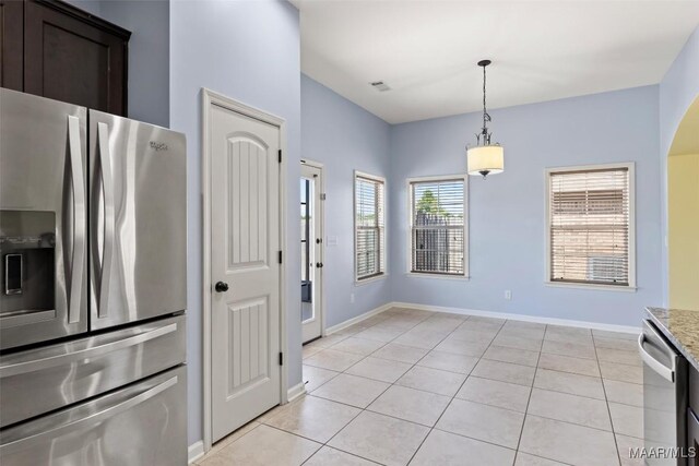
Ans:
{"type": "MultiPolygon", "coordinates": [[[[211,145],[209,143],[210,132],[210,109],[213,105],[229,109],[244,116],[260,120],[280,129],[280,150],[282,154],[286,154],[286,121],[275,115],[259,110],[238,100],[232,99],[218,94],[214,91],[202,87],[202,169],[201,169],[201,190],[202,190],[202,339],[203,339],[203,429],[204,429],[204,452],[211,450],[212,441],[212,403],[211,403],[211,145]]],[[[280,249],[282,258],[286,258],[286,159],[282,157],[280,164],[280,249]]],[[[283,262],[280,267],[280,351],[288,358],[287,338],[286,338],[286,263],[283,262]]],[[[282,404],[288,402],[286,386],[287,367],[286,363],[280,367],[280,399],[282,404]]]]}

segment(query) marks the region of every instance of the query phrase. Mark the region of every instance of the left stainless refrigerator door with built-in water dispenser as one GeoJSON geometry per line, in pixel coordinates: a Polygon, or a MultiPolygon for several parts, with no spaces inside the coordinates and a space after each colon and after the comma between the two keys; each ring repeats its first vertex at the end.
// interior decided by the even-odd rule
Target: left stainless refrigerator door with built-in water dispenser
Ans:
{"type": "Polygon", "coordinates": [[[86,118],[0,88],[0,349],[87,331],[86,118]]]}

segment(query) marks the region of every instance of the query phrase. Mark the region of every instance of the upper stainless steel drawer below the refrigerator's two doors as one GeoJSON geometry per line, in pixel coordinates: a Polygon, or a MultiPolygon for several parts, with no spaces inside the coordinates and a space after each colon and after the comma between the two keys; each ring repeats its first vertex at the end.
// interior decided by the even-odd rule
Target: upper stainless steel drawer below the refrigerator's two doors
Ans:
{"type": "Polygon", "coordinates": [[[185,362],[185,315],[0,357],[0,428],[185,362]]]}

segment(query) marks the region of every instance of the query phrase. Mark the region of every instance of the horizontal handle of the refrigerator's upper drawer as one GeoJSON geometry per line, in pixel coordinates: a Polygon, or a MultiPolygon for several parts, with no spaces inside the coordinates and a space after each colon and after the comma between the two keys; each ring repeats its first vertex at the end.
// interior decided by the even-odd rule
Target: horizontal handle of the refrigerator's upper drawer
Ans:
{"type": "Polygon", "coordinates": [[[91,358],[94,359],[99,356],[106,355],[108,353],[112,353],[122,348],[128,348],[130,346],[137,346],[145,342],[159,338],[161,336],[164,336],[174,332],[177,332],[177,323],[171,323],[156,330],[143,332],[143,333],[130,336],[128,338],[118,339],[116,342],[105,343],[104,345],[94,346],[92,348],[88,347],[88,348],[83,348],[83,349],[68,353],[68,354],[48,356],[45,358],[35,359],[31,361],[23,361],[14,365],[3,366],[3,367],[0,367],[0,379],[13,377],[13,375],[20,375],[28,372],[37,372],[44,369],[67,365],[73,361],[81,361],[81,360],[91,359],[91,358]]]}

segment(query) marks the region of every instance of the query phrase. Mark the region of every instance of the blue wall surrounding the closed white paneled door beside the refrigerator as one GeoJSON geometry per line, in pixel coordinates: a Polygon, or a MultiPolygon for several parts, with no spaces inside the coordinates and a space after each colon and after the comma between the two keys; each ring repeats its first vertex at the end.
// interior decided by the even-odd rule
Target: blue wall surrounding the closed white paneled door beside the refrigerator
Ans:
{"type": "MultiPolygon", "coordinates": [[[[288,225],[298,224],[300,55],[298,10],[286,1],[170,3],[170,124],[187,134],[188,422],[189,443],[202,430],[201,88],[208,87],[286,119],[288,225]],[[175,34],[177,32],[177,34],[175,34]]],[[[300,283],[298,228],[287,230],[286,278],[300,283]]],[[[288,286],[288,384],[301,381],[299,286],[288,286]]]]}

